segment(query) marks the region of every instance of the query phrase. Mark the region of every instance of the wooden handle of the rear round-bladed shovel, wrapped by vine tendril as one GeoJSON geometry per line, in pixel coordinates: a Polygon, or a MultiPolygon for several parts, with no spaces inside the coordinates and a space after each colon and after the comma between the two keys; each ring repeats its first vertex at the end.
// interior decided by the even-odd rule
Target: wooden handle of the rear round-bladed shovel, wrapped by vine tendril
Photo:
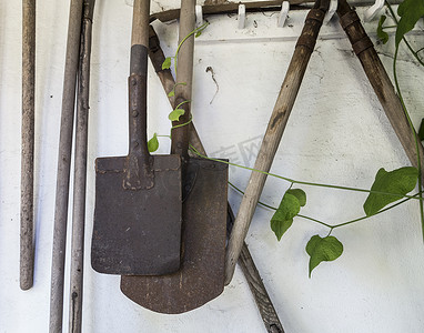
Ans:
{"type": "Polygon", "coordinates": [[[174,109],[176,107],[183,109],[184,114],[180,117],[179,121],[172,122],[172,125],[176,128],[173,128],[171,133],[171,153],[180,154],[182,158],[188,158],[189,153],[189,127],[185,124],[191,120],[190,101],[193,82],[194,36],[188,36],[195,29],[194,27],[195,0],[181,0],[179,46],[185,38],[186,39],[182,42],[176,59],[174,109]]]}

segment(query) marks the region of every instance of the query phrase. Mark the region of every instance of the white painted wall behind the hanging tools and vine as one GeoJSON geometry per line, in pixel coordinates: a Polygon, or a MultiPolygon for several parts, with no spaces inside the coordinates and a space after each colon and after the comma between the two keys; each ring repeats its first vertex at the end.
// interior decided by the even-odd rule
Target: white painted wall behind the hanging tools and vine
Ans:
{"type": "MultiPolygon", "coordinates": [[[[47,332],[50,260],[62,75],[69,1],[38,1],[37,18],[37,255],[34,286],[19,289],[19,200],[21,112],[21,3],[0,0],[0,332],[47,332]]],[[[127,153],[127,75],[132,8],[129,1],[99,1],[95,9],[91,111],[84,332],[265,332],[248,284],[238,269],[218,299],[181,315],[152,313],[119,290],[119,276],[90,266],[97,157],[127,153]]],[[[153,1],[170,8],[174,1],[153,1]],[[158,3],[160,2],[160,3],[158,3]]],[[[360,13],[362,9],[360,9],[360,13]]],[[[252,167],[289,65],[306,11],[290,12],[289,27],[276,14],[210,18],[196,40],[193,117],[206,151],[252,167]],[[256,23],[254,23],[254,21],[256,23]],[[258,28],[255,26],[258,24],[258,28]],[[205,69],[212,67],[219,91],[205,69]],[[213,99],[213,101],[212,101],[213,99]],[[226,150],[225,150],[226,149],[226,150]],[[225,155],[225,153],[230,155],[225,155]]],[[[375,39],[376,22],[366,26],[375,39]]],[[[176,23],[155,23],[165,53],[176,44],[176,23]]],[[[333,20],[322,29],[272,172],[299,180],[369,188],[376,171],[408,165],[351,46],[333,20]]],[[[420,40],[420,39],[417,39],[420,40]]],[[[422,41],[422,38],[421,38],[422,41]]],[[[392,46],[378,46],[391,72],[392,46]]],[[[416,127],[423,117],[423,69],[402,56],[400,80],[416,127]]],[[[149,133],[168,134],[170,112],[153,68],[149,72],[149,133]]],[[[169,142],[161,139],[161,153],[169,142]]],[[[231,168],[231,181],[244,189],[250,173],[231,168]]],[[[269,179],[262,194],[277,205],[287,183],[269,179]]],[[[365,194],[303,186],[305,215],[329,223],[362,216],[365,194]]],[[[236,211],[241,196],[229,190],[236,211]]],[[[270,230],[272,211],[259,208],[246,242],[287,333],[423,332],[424,246],[417,202],[333,234],[344,253],[307,276],[305,245],[324,226],[296,219],[277,242],[270,230]]],[[[69,251],[68,251],[69,252],[69,251]]],[[[67,271],[67,274],[69,272],[67,271]]],[[[69,279],[67,279],[69,281],[69,279]]],[[[68,317],[68,285],[65,319],[68,317]]],[[[64,330],[67,331],[68,327],[64,330]]]]}

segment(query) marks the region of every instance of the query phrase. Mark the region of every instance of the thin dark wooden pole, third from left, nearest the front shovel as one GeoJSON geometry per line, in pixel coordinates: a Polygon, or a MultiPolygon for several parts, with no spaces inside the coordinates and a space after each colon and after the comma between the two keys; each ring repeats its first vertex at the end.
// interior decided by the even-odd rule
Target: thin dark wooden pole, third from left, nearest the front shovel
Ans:
{"type": "Polygon", "coordinates": [[[73,178],[73,211],[71,243],[71,282],[69,332],[81,333],[84,271],[87,150],[90,98],[90,57],[92,21],[95,0],[85,0],[83,7],[80,65],[78,71],[75,152],[73,178]]]}

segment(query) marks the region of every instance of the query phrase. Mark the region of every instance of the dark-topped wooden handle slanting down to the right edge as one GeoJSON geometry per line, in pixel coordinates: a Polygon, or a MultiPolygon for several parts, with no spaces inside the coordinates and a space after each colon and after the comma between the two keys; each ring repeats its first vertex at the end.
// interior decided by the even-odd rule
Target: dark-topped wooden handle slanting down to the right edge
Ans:
{"type": "MultiPolygon", "coordinates": [[[[367,37],[356,12],[351,9],[345,0],[339,1],[337,14],[340,22],[352,43],[353,50],[361,61],[365,74],[374,89],[375,94],[382,104],[390,123],[392,124],[403,149],[406,152],[412,165],[417,168],[417,155],[414,135],[415,130],[411,129],[400,98],[397,97],[391,79],[381,62],[374,44],[367,37]]],[[[418,140],[421,174],[424,168],[424,149],[418,140]]]]}

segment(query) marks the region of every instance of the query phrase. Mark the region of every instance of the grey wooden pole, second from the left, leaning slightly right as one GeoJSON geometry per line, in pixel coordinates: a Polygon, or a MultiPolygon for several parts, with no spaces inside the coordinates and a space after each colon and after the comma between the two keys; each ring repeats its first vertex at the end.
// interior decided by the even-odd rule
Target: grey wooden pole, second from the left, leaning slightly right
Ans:
{"type": "Polygon", "coordinates": [[[75,83],[80,54],[83,0],[71,0],[64,63],[50,291],[50,332],[62,332],[64,256],[75,83]]]}

